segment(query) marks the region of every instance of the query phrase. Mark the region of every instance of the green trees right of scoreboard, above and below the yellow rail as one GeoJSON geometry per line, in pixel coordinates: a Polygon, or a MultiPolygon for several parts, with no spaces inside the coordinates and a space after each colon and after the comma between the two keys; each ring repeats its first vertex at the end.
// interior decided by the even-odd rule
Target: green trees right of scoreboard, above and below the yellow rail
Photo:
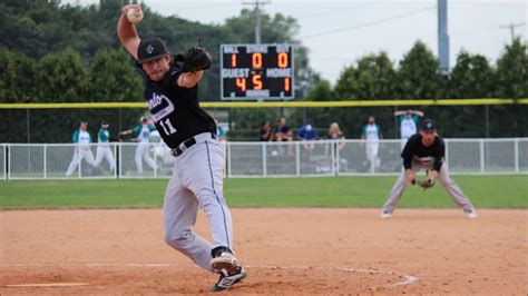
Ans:
{"type": "MultiPolygon", "coordinates": [[[[528,98],[528,52],[519,38],[506,45],[496,65],[481,55],[461,51],[449,76],[438,69],[438,59],[427,46],[417,41],[399,65],[387,52],[360,58],[343,69],[335,86],[320,80],[303,98],[324,100],[392,100],[392,99],[470,99],[528,98]]],[[[349,138],[360,138],[361,127],[370,115],[384,130],[385,138],[398,138],[393,117],[397,109],[421,109],[426,117],[439,122],[441,135],[456,138],[527,137],[528,106],[423,106],[375,108],[306,108],[276,110],[235,109],[238,128],[258,128],[262,118],[272,124],[287,114],[289,124],[300,127],[315,124],[325,132],[331,122],[339,122],[349,138]]],[[[324,135],[324,134],[323,134],[324,135]]]]}

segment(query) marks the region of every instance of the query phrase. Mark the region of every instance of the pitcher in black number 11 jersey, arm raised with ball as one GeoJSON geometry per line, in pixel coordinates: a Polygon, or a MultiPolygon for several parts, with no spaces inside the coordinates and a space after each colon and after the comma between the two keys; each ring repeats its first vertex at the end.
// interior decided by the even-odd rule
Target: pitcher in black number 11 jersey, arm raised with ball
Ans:
{"type": "Polygon", "coordinates": [[[117,33],[146,75],[145,99],[163,140],[175,157],[164,199],[165,241],[198,266],[219,274],[212,292],[228,289],[246,277],[233,253],[233,225],[223,196],[224,150],[216,125],[199,108],[197,83],[204,71],[184,72],[159,38],[140,39],[121,9],[117,33]],[[198,207],[207,215],[213,244],[192,229],[198,207]]]}

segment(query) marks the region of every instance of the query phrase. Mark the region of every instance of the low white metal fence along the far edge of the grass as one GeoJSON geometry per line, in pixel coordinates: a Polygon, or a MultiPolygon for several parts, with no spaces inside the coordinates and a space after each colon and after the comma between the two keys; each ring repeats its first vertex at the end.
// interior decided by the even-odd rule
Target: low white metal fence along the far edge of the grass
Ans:
{"type": "MultiPolygon", "coordinates": [[[[401,171],[401,140],[225,142],[226,177],[381,176],[401,171]],[[368,149],[377,149],[368,157],[368,149]]],[[[168,178],[174,157],[160,142],[109,144],[116,161],[97,144],[0,144],[0,180],[168,178]],[[100,161],[99,161],[100,160],[100,161]],[[114,168],[115,167],[115,168],[114,168]],[[69,169],[69,170],[68,170],[69,169]]],[[[446,139],[452,174],[528,174],[528,138],[446,139]]]]}

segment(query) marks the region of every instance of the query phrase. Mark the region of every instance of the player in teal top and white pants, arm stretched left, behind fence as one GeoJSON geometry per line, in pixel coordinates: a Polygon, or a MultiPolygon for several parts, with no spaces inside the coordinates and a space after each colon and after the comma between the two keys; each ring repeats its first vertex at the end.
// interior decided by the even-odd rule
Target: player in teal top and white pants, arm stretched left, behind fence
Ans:
{"type": "Polygon", "coordinates": [[[141,117],[139,119],[141,122],[140,126],[134,127],[133,129],[124,130],[119,135],[126,136],[134,134],[137,136],[137,148],[136,148],[136,167],[137,167],[137,174],[143,175],[143,160],[147,162],[147,165],[153,169],[157,169],[156,161],[150,157],[148,154],[148,147],[150,147],[150,144],[148,139],[150,138],[150,132],[153,130],[156,130],[156,127],[153,125],[148,124],[148,120],[146,117],[141,117]]]}

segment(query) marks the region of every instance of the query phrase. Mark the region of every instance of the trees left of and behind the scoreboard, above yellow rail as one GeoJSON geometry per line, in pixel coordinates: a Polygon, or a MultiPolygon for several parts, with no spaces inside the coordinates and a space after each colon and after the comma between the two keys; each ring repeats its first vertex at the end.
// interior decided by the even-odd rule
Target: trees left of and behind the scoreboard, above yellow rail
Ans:
{"type": "MultiPolygon", "coordinates": [[[[116,33],[123,3],[100,0],[97,6],[79,7],[59,0],[0,2],[0,102],[143,100],[140,70],[116,33]]],[[[143,7],[139,36],[164,39],[173,53],[202,45],[216,58],[222,43],[253,42],[253,10],[243,9],[222,24],[203,24],[177,16],[163,17],[147,4],[143,7]]],[[[263,14],[261,22],[264,42],[295,45],[295,81],[316,81],[319,76],[310,68],[307,50],[295,38],[296,20],[276,13],[263,14]]],[[[215,59],[201,82],[199,99],[218,98],[219,65],[215,59]]]]}

